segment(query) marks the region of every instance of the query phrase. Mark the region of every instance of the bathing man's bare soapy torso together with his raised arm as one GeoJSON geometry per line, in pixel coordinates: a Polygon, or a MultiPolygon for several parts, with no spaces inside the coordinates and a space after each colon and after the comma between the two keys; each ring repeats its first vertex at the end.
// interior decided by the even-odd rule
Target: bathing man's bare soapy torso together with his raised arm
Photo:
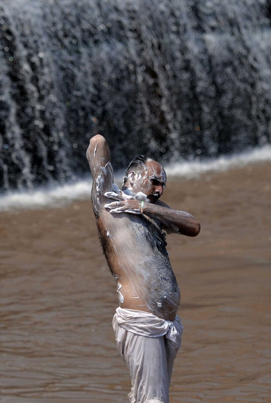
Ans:
{"type": "Polygon", "coordinates": [[[100,136],[96,144],[90,145],[87,156],[93,177],[93,210],[120,306],[174,320],[180,290],[161,224],[144,215],[110,214],[104,208],[108,203],[104,193],[112,191],[113,184],[109,149],[105,147],[100,136]]]}

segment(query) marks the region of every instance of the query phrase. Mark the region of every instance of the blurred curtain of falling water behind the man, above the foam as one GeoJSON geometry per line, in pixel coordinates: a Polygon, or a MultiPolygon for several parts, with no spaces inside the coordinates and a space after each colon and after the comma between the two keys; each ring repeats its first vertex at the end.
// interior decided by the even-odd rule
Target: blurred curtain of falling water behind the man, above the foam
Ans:
{"type": "Polygon", "coordinates": [[[0,188],[270,143],[270,0],[0,3],[0,188]]]}

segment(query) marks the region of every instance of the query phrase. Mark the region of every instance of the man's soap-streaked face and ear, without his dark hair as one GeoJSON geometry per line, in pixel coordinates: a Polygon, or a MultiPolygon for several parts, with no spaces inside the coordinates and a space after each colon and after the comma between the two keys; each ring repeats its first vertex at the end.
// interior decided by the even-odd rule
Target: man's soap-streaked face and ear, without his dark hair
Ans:
{"type": "Polygon", "coordinates": [[[166,187],[167,175],[156,161],[146,163],[146,169],[138,174],[129,172],[128,178],[133,193],[143,192],[151,203],[156,203],[166,187]]]}

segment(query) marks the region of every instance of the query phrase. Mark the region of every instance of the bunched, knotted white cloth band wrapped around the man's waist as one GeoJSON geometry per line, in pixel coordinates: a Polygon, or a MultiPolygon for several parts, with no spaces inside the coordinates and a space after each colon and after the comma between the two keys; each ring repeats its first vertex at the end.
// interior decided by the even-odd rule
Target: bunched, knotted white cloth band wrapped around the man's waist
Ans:
{"type": "Polygon", "coordinates": [[[145,337],[161,337],[166,335],[168,340],[182,336],[183,324],[181,318],[176,315],[173,321],[161,319],[153,313],[135,309],[116,308],[113,317],[113,329],[116,324],[128,332],[145,337]]]}

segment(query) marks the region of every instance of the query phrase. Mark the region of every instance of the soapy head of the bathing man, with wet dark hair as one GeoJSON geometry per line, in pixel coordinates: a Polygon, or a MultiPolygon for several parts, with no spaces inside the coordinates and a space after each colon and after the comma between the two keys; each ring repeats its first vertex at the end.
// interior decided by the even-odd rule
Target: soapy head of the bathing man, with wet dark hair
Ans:
{"type": "Polygon", "coordinates": [[[143,192],[155,203],[162,196],[166,181],[162,165],[146,155],[139,155],[131,160],[125,172],[122,190],[128,188],[132,194],[143,192]]]}

